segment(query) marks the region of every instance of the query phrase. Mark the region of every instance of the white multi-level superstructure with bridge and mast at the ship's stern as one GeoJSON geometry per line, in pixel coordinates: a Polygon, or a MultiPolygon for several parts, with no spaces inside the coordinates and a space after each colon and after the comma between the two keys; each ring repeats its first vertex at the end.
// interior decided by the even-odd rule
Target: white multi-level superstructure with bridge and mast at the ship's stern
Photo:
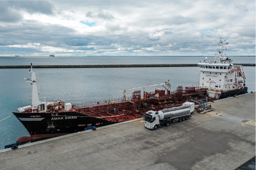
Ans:
{"type": "MultiPolygon", "coordinates": [[[[225,47],[227,44],[226,40],[220,38],[215,60],[208,61],[208,58],[205,57],[204,62],[198,63],[200,87],[207,88],[210,91],[228,91],[242,89],[245,86],[245,74],[242,65],[234,65],[231,63],[232,60],[222,56],[223,50],[227,49],[225,47]]],[[[210,97],[213,96],[210,95],[210,97]]]]}

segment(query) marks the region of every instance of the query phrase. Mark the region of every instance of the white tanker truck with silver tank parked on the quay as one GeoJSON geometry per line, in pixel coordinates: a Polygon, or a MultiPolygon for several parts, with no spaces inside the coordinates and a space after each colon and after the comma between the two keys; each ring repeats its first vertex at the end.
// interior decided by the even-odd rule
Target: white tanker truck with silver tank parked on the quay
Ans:
{"type": "Polygon", "coordinates": [[[185,102],[179,107],[165,108],[158,112],[148,111],[145,114],[145,127],[153,130],[161,127],[162,124],[169,126],[170,122],[188,120],[194,109],[195,103],[185,102]]]}

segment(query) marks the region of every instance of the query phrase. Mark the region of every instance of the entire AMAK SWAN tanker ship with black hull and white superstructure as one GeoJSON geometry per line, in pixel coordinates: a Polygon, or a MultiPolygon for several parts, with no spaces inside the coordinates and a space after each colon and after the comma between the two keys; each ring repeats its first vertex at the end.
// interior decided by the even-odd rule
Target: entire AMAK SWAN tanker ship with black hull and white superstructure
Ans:
{"type": "Polygon", "coordinates": [[[89,103],[70,104],[61,100],[42,102],[37,91],[36,73],[32,70],[32,104],[19,107],[12,112],[28,130],[30,137],[21,137],[17,142],[28,142],[58,137],[69,133],[83,131],[86,128],[133,120],[143,116],[147,111],[158,111],[166,107],[179,106],[186,101],[202,99],[217,100],[229,96],[244,94],[245,74],[242,65],[233,65],[231,60],[222,57],[226,40],[219,41],[219,55],[215,61],[198,63],[200,70],[199,87],[179,86],[171,92],[169,81],[149,86],[124,90],[124,97],[93,101],[89,103]],[[134,91],[131,97],[125,97],[125,91],[145,87],[163,86],[165,90],[154,92],[134,91]]]}

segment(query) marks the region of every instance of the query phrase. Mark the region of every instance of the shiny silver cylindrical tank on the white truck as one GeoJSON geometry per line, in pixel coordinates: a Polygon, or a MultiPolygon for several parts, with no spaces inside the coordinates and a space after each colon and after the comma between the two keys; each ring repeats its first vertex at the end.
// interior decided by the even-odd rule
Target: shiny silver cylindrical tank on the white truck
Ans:
{"type": "Polygon", "coordinates": [[[159,120],[164,120],[166,118],[181,116],[190,113],[190,108],[187,106],[179,106],[172,108],[165,108],[158,111],[159,120]]]}

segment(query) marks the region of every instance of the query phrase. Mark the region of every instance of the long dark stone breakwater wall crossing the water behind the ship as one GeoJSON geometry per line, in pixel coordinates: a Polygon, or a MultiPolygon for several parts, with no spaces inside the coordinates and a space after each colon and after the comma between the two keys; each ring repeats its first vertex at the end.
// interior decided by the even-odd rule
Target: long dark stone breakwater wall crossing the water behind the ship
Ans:
{"type": "MultiPolygon", "coordinates": [[[[235,64],[255,66],[255,64],[235,64]]],[[[197,67],[197,64],[115,64],[115,65],[33,65],[36,69],[56,68],[114,68],[114,67],[197,67]]],[[[29,69],[30,65],[0,65],[0,69],[29,69]]]]}

